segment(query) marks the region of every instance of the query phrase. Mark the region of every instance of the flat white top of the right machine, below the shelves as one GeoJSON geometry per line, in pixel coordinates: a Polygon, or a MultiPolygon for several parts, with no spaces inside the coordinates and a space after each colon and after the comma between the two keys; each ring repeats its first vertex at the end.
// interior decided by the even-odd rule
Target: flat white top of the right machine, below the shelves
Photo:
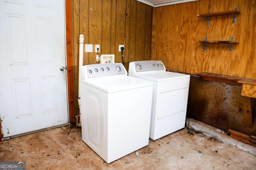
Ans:
{"type": "Polygon", "coordinates": [[[176,72],[151,72],[151,73],[144,73],[144,74],[131,74],[130,76],[136,76],[139,78],[144,78],[146,80],[152,80],[155,82],[163,82],[169,80],[177,80],[182,78],[190,78],[190,75],[187,74],[180,74],[176,72]]]}

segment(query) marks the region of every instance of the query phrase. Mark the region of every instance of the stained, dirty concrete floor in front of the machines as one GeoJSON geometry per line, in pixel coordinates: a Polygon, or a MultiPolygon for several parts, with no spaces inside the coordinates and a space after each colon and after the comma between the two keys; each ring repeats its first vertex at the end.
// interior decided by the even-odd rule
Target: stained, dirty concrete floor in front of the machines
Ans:
{"type": "Polygon", "coordinates": [[[106,164],[81,137],[60,127],[0,142],[0,161],[26,161],[27,169],[256,169],[256,156],[182,129],[106,164]]]}

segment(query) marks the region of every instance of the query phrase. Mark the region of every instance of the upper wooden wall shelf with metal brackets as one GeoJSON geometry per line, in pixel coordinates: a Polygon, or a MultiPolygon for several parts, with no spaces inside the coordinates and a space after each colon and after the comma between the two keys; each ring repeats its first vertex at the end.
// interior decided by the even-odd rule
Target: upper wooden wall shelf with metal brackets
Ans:
{"type": "Polygon", "coordinates": [[[204,14],[197,14],[197,17],[204,18],[206,20],[207,25],[210,23],[210,18],[214,16],[227,16],[231,15],[233,18],[233,23],[236,24],[236,15],[240,14],[241,12],[238,11],[238,8],[236,7],[235,10],[230,10],[230,11],[221,11],[221,12],[210,12],[204,13],[204,14]]]}

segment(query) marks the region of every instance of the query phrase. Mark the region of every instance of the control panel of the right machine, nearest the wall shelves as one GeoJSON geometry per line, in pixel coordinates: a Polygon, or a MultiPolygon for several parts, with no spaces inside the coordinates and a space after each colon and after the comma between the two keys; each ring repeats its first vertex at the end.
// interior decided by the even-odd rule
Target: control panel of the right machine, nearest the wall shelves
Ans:
{"type": "Polygon", "coordinates": [[[145,72],[166,70],[162,61],[135,61],[129,64],[129,72],[145,72]]]}

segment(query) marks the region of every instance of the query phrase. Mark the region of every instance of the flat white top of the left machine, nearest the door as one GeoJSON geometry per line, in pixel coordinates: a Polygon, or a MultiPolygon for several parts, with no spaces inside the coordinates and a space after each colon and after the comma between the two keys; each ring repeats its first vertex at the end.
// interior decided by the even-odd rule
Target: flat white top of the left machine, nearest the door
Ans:
{"type": "Polygon", "coordinates": [[[106,93],[114,93],[134,88],[153,86],[153,82],[149,82],[132,76],[120,76],[97,80],[81,80],[81,82],[99,90],[102,90],[106,93]]]}

